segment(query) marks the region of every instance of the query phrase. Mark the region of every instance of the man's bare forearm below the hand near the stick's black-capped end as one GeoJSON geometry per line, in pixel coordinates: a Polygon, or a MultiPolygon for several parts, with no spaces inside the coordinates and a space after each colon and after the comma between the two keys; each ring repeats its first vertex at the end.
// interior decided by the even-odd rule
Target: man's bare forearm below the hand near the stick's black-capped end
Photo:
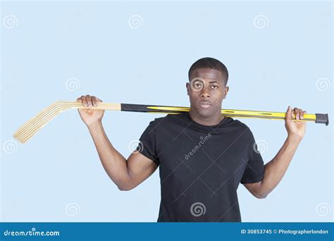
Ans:
{"type": "Polygon", "coordinates": [[[264,180],[260,186],[260,195],[266,197],[282,180],[302,138],[288,136],[278,154],[264,166],[264,180]]]}

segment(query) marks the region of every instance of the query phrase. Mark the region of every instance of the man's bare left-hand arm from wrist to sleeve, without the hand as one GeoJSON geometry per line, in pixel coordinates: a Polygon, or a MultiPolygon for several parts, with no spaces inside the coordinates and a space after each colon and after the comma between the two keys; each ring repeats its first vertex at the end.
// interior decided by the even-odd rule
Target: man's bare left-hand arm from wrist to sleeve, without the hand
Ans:
{"type": "Polygon", "coordinates": [[[156,171],[156,163],[140,152],[132,152],[126,160],[113,147],[100,121],[88,128],[104,170],[120,190],[131,190],[156,171]]]}

